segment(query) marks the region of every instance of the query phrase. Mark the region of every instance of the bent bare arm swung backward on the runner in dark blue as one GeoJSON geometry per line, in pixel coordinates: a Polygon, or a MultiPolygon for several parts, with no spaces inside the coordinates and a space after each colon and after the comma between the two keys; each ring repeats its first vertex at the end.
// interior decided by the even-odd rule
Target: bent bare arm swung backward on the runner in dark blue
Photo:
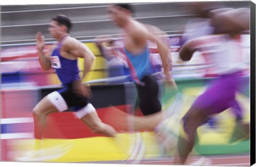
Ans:
{"type": "Polygon", "coordinates": [[[75,38],[68,38],[64,41],[62,46],[63,51],[69,52],[71,55],[75,57],[80,57],[84,59],[84,73],[83,78],[90,71],[93,61],[95,60],[94,54],[90,51],[90,49],[79,42],[75,38]]]}

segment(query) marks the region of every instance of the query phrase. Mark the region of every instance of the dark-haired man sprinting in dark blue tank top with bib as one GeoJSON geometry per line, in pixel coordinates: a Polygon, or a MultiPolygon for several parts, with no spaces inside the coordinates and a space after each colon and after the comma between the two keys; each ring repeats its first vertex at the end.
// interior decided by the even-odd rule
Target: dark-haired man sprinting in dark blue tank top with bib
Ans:
{"type": "Polygon", "coordinates": [[[39,129],[42,130],[37,131],[35,135],[43,137],[43,129],[48,114],[62,112],[69,107],[74,107],[77,118],[81,119],[94,133],[113,137],[116,131],[101,122],[95,108],[89,102],[91,98],[90,87],[85,87],[82,84],[95,56],[86,45],[69,36],[70,28],[71,22],[65,15],[57,15],[51,19],[48,30],[50,35],[58,40],[58,43],[52,49],[50,57],[44,52],[44,36],[41,32],[36,34],[39,63],[43,71],[55,69],[63,88],[47,95],[34,107],[35,127],[39,126],[39,129]],[[79,77],[78,57],[84,59],[83,78],[79,77]]]}

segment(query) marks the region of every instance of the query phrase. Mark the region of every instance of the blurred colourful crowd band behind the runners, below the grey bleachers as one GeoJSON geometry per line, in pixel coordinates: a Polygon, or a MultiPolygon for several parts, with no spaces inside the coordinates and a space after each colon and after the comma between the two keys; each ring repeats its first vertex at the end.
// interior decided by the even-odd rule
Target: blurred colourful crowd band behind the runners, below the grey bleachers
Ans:
{"type": "MultiPolygon", "coordinates": [[[[214,69],[214,64],[211,64],[211,58],[201,52],[196,52],[195,56],[188,61],[183,62],[179,59],[179,48],[181,36],[169,37],[170,39],[170,51],[172,55],[173,64],[173,76],[174,79],[178,78],[205,78],[205,77],[217,77],[217,73],[214,69]]],[[[125,63],[118,60],[107,60],[106,57],[101,55],[98,47],[93,42],[84,43],[97,56],[94,62],[93,68],[84,82],[93,80],[97,82],[97,79],[117,77],[125,75],[123,72],[123,66],[125,63]]],[[[241,35],[241,66],[247,70],[246,75],[250,74],[250,35],[241,35]]],[[[49,49],[51,45],[47,45],[49,49]]],[[[153,62],[156,72],[163,72],[161,58],[157,52],[155,44],[150,44],[150,57],[153,62]]],[[[78,61],[81,75],[83,71],[83,59],[78,61]]],[[[50,72],[43,72],[38,62],[38,56],[35,46],[15,46],[15,47],[2,47],[1,49],[1,84],[2,88],[11,85],[29,84],[31,86],[49,86],[59,85],[60,81],[56,76],[54,70],[50,72]],[[15,84],[16,83],[16,84],[15,84]],[[6,85],[7,84],[7,85],[6,85]]],[[[107,82],[102,81],[102,83],[107,82]]],[[[17,85],[17,86],[18,86],[17,85]]]]}

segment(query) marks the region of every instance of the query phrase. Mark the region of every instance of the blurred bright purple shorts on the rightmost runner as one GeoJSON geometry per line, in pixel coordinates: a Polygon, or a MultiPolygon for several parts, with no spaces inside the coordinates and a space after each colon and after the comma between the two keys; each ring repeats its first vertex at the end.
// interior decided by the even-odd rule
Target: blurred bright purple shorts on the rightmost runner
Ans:
{"type": "Polygon", "coordinates": [[[236,116],[241,116],[242,111],[236,102],[235,94],[245,86],[246,82],[242,76],[242,72],[220,76],[210,88],[196,98],[192,107],[207,112],[208,115],[221,113],[229,107],[234,107],[236,116]]]}

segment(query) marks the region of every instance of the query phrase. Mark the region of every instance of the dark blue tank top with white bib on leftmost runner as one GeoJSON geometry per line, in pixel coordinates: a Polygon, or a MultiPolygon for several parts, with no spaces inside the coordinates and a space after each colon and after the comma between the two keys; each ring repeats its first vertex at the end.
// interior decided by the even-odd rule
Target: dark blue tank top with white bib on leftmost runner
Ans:
{"type": "Polygon", "coordinates": [[[77,66],[77,59],[69,60],[60,55],[62,41],[66,37],[67,36],[62,37],[58,46],[54,49],[50,57],[52,68],[55,69],[57,76],[63,85],[68,85],[74,80],[80,79],[79,70],[77,66]]]}

